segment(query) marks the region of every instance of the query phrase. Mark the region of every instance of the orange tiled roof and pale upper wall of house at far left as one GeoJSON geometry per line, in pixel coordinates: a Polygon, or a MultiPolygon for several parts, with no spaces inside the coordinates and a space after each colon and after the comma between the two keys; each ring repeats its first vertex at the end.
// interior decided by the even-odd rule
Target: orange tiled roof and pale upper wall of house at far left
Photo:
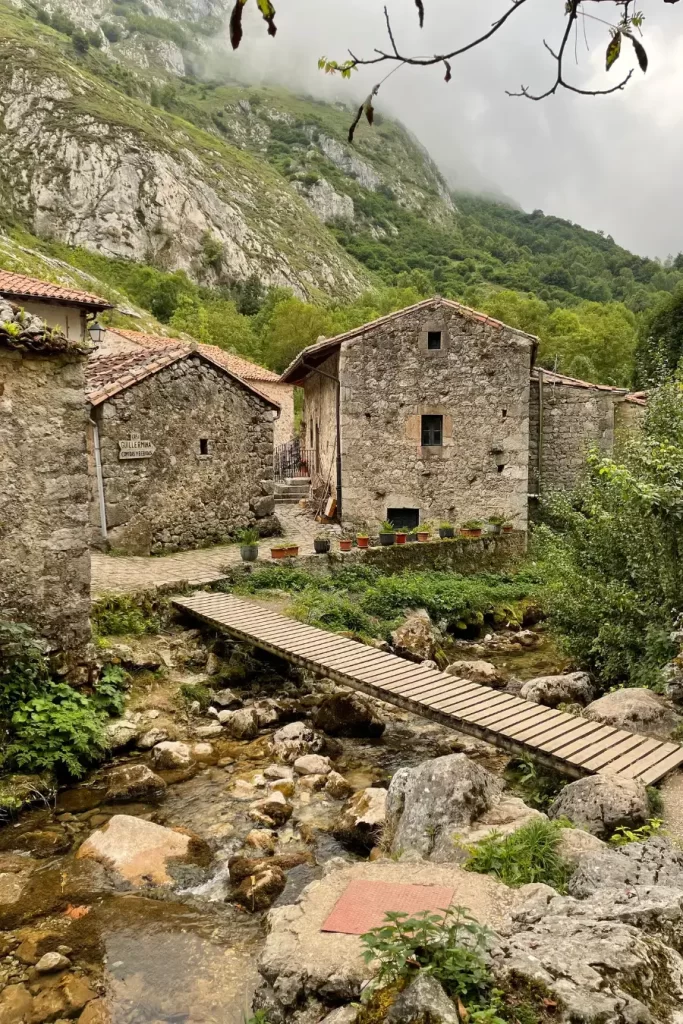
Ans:
{"type": "Polygon", "coordinates": [[[38,278],[27,278],[11,270],[0,270],[0,295],[20,305],[49,328],[58,328],[69,341],[87,341],[89,322],[97,313],[112,309],[112,303],[99,295],[63,288],[38,278]]]}

